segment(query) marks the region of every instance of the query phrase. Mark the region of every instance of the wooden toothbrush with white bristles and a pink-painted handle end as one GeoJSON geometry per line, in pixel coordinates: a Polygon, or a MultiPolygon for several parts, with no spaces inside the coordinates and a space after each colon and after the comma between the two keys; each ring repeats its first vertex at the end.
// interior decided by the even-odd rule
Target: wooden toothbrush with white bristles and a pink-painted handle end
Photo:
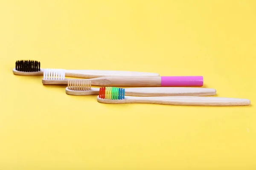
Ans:
{"type": "MultiPolygon", "coordinates": [[[[44,70],[43,84],[67,85],[65,71],[58,69],[44,70]]],[[[131,86],[131,87],[186,87],[203,86],[202,76],[108,76],[87,79],[91,85],[100,86],[131,86]]]]}

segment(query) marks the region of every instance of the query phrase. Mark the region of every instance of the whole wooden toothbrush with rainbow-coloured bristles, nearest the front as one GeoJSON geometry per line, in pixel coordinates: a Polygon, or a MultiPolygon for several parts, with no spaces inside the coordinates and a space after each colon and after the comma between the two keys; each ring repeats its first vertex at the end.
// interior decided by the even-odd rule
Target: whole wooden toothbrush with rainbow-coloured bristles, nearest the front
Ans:
{"type": "Polygon", "coordinates": [[[224,98],[224,97],[202,97],[202,96],[158,96],[138,97],[125,96],[123,88],[107,88],[101,90],[97,101],[109,104],[122,103],[151,103],[161,105],[187,105],[187,106],[247,106],[249,99],[224,98]]]}

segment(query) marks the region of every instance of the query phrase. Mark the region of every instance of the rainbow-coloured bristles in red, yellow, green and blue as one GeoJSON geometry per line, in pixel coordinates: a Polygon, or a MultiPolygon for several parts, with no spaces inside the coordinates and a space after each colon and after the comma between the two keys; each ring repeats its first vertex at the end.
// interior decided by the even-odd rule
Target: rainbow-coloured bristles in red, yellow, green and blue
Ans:
{"type": "Polygon", "coordinates": [[[99,98],[101,99],[124,99],[125,89],[116,87],[102,87],[99,88],[99,98]]]}

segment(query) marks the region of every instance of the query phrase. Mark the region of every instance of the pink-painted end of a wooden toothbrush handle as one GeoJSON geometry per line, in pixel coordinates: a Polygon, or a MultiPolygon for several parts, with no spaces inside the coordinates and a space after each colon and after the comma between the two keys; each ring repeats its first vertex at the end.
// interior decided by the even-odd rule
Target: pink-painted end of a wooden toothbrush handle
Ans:
{"type": "Polygon", "coordinates": [[[161,86],[164,87],[193,87],[203,86],[203,76],[167,76],[161,77],[161,86]]]}

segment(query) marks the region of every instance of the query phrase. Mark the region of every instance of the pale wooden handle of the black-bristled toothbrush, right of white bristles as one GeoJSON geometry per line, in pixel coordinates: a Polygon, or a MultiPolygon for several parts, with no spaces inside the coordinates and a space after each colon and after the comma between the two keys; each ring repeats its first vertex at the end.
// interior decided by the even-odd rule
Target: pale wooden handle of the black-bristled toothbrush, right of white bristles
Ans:
{"type": "Polygon", "coordinates": [[[106,76],[159,76],[157,73],[137,71],[66,70],[67,77],[96,78],[106,76]]]}

